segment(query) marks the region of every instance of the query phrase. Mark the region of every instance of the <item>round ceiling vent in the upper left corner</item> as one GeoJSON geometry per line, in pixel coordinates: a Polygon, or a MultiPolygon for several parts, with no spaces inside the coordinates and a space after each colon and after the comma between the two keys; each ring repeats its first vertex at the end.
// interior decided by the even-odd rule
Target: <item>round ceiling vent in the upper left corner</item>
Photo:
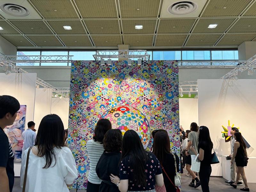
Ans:
{"type": "Polygon", "coordinates": [[[27,17],[30,12],[25,7],[16,4],[2,4],[0,10],[15,17],[27,17]]]}

